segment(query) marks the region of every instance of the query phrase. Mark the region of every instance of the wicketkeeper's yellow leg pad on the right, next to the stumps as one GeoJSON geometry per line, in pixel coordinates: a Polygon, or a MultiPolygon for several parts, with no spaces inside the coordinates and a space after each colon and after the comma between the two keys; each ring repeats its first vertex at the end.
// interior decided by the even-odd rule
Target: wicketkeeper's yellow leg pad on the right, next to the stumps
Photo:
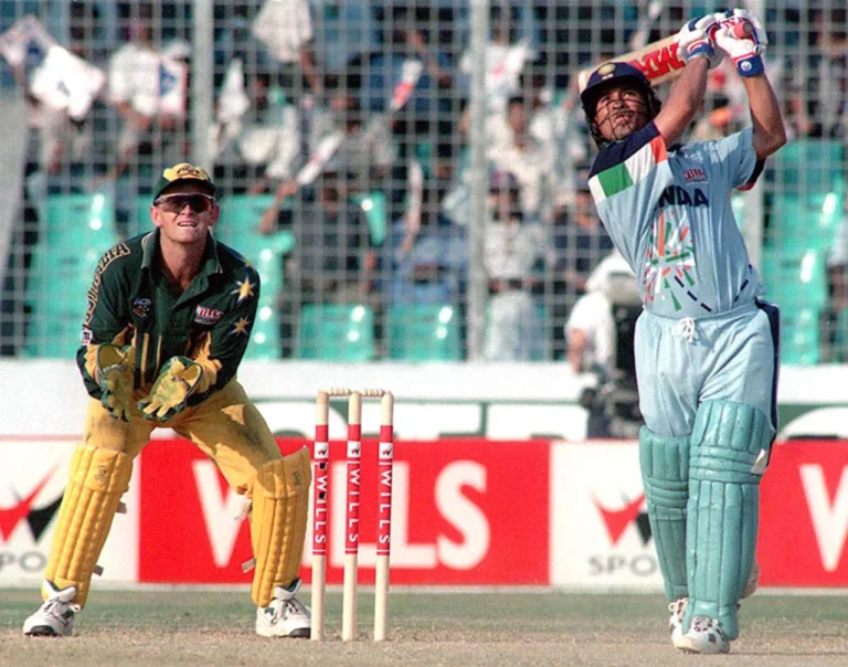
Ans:
{"type": "Polygon", "coordinates": [[[256,606],[268,606],[274,587],[288,586],[300,573],[311,480],[307,447],[268,462],[256,473],[251,514],[256,559],[251,596],[256,606]]]}

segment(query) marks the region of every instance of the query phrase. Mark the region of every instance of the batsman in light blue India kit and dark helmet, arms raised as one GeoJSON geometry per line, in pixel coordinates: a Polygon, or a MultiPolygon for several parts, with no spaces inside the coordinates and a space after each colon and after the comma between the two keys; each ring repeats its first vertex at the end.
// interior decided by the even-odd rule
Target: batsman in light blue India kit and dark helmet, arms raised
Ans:
{"type": "Polygon", "coordinates": [[[777,428],[778,313],[760,298],[730,194],[754,184],[786,135],[756,17],[695,19],[677,43],[687,64],[665,105],[625,63],[601,65],[581,102],[600,148],[592,194],[644,304],[639,462],[671,642],[718,654],[739,636],[739,601],[755,587],[759,485],[777,428]],[[748,25],[733,30],[739,23],[748,25]],[[725,54],[752,127],[676,144],[701,107],[708,70],[725,54]]]}

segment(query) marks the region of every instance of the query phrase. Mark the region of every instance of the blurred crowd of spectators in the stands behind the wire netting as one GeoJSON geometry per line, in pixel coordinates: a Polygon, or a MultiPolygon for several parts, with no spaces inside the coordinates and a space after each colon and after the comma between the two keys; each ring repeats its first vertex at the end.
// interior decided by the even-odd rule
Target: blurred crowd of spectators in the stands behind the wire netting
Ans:
{"type": "MultiPolygon", "coordinates": [[[[717,9],[703,2],[662,4],[646,23],[635,1],[491,1],[483,54],[485,359],[566,359],[564,325],[612,247],[587,192],[594,148],[576,73],[628,45],[671,34],[699,9],[717,9]]],[[[761,274],[773,288],[771,278],[792,282],[803,271],[803,257],[783,252],[793,244],[784,222],[791,204],[813,215],[824,205],[829,218],[816,220],[826,226],[827,240],[813,248],[820,273],[816,298],[783,285],[770,295],[789,313],[788,362],[844,361],[846,10],[836,2],[767,4],[770,74],[782,84],[789,136],[806,147],[806,159],[814,156],[815,167],[799,168],[789,158],[770,167],[761,274]],[[816,155],[833,157],[816,160],[816,155]],[[825,198],[824,204],[809,200],[813,194],[825,198]],[[798,307],[817,306],[795,321],[793,299],[798,307]],[[806,329],[805,318],[814,320],[806,329]]],[[[85,113],[57,109],[33,89],[33,73],[45,62],[44,50],[33,46],[39,40],[30,36],[26,56],[18,61],[8,42],[0,46],[2,89],[28,93],[31,128],[22,214],[13,222],[2,292],[0,353],[25,353],[33,318],[50,316],[35,311],[26,297],[47,224],[44,202],[108,192],[117,239],[141,233],[159,170],[191,156],[192,141],[203,137],[226,204],[221,239],[248,257],[248,248],[292,240],[276,257],[279,280],[267,282],[278,287],[271,301],[278,335],[273,357],[306,356],[305,318],[318,313],[327,320],[344,313],[339,308],[359,308],[369,313],[373,335],[365,337],[372,345],[362,358],[465,358],[475,57],[468,2],[218,1],[211,54],[192,51],[188,0],[83,0],[65,3],[56,15],[31,6],[38,3],[4,2],[0,32],[9,34],[33,15],[56,43],[105,76],[85,113]],[[213,62],[209,133],[194,126],[191,113],[199,57],[213,62]],[[425,331],[434,317],[435,332],[425,331]],[[400,331],[418,330],[403,318],[424,322],[421,350],[399,343],[400,331]],[[428,348],[428,336],[438,346],[428,348]]],[[[740,95],[732,65],[717,68],[711,108],[691,135],[717,137],[746,125],[740,95]]],[[[740,205],[743,222],[743,200],[740,205]]]]}

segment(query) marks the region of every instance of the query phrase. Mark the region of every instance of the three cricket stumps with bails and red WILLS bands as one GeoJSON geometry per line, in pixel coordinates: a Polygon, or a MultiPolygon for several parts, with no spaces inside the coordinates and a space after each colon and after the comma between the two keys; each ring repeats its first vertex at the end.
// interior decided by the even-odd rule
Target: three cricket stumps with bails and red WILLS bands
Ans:
{"type": "Polygon", "coordinates": [[[382,389],[328,389],[318,392],[312,449],[312,627],[311,638],[325,638],[325,593],[327,584],[327,523],[329,517],[329,410],[330,398],[348,400],[348,448],[346,459],[347,500],[344,517],[344,575],[342,586],[341,638],[357,635],[357,576],[359,555],[359,508],[362,469],[362,400],[379,399],[381,406],[378,456],[377,572],[374,585],[374,640],[386,638],[389,612],[389,552],[392,527],[392,466],[394,457],[394,398],[382,389]]]}

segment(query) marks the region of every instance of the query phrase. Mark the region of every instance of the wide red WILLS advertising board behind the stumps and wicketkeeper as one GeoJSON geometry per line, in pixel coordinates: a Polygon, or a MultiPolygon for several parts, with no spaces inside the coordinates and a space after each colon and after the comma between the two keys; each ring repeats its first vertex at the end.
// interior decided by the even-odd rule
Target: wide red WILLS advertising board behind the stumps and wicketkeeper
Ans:
{"type": "MultiPolygon", "coordinates": [[[[284,453],[303,440],[280,438],[284,453]]],[[[392,583],[547,585],[550,582],[550,442],[485,438],[398,442],[392,583]]],[[[373,582],[377,442],[363,442],[360,569],[373,582]]],[[[155,441],[140,455],[139,581],[246,583],[250,529],[243,499],[186,441],[155,441]]],[[[328,583],[344,551],[344,443],[330,446],[328,583]]],[[[301,570],[309,581],[307,549],[301,570]]]]}

